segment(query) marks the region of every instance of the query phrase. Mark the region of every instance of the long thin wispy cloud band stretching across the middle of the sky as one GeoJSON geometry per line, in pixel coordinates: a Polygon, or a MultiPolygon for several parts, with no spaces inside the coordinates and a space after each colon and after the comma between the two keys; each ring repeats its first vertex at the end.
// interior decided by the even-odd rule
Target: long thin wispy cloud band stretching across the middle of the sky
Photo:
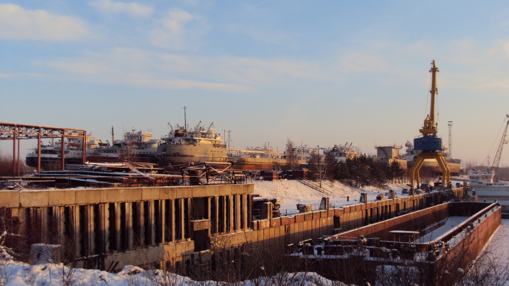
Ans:
{"type": "Polygon", "coordinates": [[[326,79],[316,63],[286,59],[191,57],[139,49],[115,48],[44,65],[79,80],[163,89],[252,91],[260,85],[290,84],[294,79],[326,79]]]}

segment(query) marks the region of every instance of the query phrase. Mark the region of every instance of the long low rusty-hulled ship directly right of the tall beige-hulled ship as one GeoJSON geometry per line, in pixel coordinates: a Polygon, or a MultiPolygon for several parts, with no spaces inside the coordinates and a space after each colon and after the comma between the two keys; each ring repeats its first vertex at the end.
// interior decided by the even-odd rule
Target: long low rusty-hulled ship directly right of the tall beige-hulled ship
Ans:
{"type": "Polygon", "coordinates": [[[300,146],[293,151],[274,151],[274,148],[264,145],[263,147],[246,149],[228,149],[228,162],[232,163],[235,170],[289,170],[298,169],[306,165],[313,148],[300,146]]]}

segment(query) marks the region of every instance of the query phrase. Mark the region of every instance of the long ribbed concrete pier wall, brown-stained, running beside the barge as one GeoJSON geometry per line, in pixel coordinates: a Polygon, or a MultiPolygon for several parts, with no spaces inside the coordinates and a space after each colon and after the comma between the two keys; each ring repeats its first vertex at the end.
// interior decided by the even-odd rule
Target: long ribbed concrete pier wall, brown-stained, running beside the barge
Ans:
{"type": "MultiPolygon", "coordinates": [[[[252,220],[253,184],[22,190],[0,192],[7,241],[28,255],[34,243],[59,244],[58,260],[76,267],[125,265],[200,273],[211,245],[280,247],[333,235],[442,203],[433,192],[377,202],[252,220]]],[[[264,217],[264,216],[262,216],[264,217]]],[[[0,222],[2,224],[2,222],[0,222]]],[[[0,226],[4,227],[4,226],[0,226]]]]}

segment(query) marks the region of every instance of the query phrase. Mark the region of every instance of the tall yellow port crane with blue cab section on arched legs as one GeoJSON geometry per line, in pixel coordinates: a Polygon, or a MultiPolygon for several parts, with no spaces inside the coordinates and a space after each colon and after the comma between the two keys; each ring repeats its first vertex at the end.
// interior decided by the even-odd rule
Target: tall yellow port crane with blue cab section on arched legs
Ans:
{"type": "Polygon", "coordinates": [[[450,170],[447,167],[447,162],[444,160],[444,156],[441,151],[444,150],[442,145],[442,138],[437,136],[438,123],[435,122],[435,96],[438,94],[437,87],[437,73],[439,72],[438,67],[435,64],[435,60],[431,62],[431,104],[430,114],[424,119],[424,124],[419,132],[422,137],[414,139],[414,149],[420,150],[417,154],[412,169],[410,169],[410,184],[413,186],[414,181],[417,181],[417,187],[419,187],[419,170],[426,159],[435,159],[438,165],[442,169],[442,184],[447,185],[450,182],[450,170]]]}

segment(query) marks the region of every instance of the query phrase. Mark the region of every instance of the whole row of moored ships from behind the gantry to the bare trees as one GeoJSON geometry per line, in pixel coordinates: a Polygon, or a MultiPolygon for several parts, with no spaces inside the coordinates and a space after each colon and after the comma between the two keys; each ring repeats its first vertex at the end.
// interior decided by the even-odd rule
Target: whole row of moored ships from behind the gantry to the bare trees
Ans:
{"type": "MultiPolygon", "coordinates": [[[[274,151],[264,146],[246,148],[245,150],[227,149],[223,137],[217,134],[214,123],[208,127],[201,125],[186,128],[177,124],[174,129],[161,139],[152,139],[152,134],[132,130],[126,132],[122,140],[112,139],[103,143],[90,137],[87,140],[87,161],[90,163],[153,163],[162,166],[185,166],[204,162],[231,163],[240,170],[272,170],[275,166],[283,169],[307,164],[310,155],[316,151],[304,146],[297,147],[294,160],[286,151],[274,151]],[[292,166],[293,165],[293,166],[292,166]]],[[[64,148],[65,164],[81,164],[82,142],[79,139],[68,139],[62,143],[56,141],[41,145],[41,166],[51,168],[61,162],[64,148]]],[[[38,149],[29,150],[26,165],[37,167],[38,149]]]]}

